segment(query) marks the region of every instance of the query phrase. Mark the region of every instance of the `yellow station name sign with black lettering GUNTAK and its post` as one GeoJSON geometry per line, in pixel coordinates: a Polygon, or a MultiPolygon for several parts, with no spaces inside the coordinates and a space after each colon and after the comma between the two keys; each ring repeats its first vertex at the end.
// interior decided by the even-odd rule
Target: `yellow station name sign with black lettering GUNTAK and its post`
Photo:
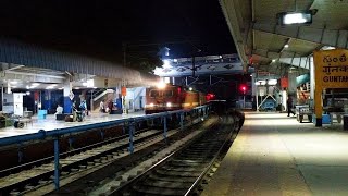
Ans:
{"type": "Polygon", "coordinates": [[[324,88],[348,87],[348,50],[335,49],[314,51],[315,90],[314,111],[315,126],[322,126],[322,93],[324,88]]]}

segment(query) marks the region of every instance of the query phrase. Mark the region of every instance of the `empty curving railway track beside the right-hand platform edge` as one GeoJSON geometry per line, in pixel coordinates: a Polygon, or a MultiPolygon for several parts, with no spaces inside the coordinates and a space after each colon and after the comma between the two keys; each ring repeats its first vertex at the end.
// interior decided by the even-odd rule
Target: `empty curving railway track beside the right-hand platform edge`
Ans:
{"type": "Polygon", "coordinates": [[[165,156],[147,171],[119,187],[115,181],[96,188],[89,195],[190,195],[199,192],[216,170],[234,136],[234,120],[226,117],[199,137],[165,156]],[[111,184],[111,185],[110,185],[111,184]]]}

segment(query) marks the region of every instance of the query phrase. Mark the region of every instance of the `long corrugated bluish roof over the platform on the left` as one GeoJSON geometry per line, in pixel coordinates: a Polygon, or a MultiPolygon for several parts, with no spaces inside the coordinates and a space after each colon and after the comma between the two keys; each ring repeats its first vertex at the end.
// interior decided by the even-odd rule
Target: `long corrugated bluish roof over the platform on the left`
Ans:
{"type": "Polygon", "coordinates": [[[84,83],[88,79],[95,79],[91,87],[97,88],[122,84],[135,87],[152,85],[158,79],[158,76],[125,68],[122,63],[4,38],[0,39],[0,75],[1,86],[24,89],[29,89],[33,83],[40,84],[36,89],[46,89],[52,84],[57,85],[54,88],[61,88],[66,81],[72,82],[73,87],[86,88],[84,83]]]}

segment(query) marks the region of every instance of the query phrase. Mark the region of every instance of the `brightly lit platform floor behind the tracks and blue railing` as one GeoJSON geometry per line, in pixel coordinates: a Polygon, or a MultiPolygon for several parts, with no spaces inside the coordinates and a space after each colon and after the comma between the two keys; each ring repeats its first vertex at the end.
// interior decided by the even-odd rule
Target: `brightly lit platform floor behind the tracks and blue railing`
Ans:
{"type": "Polygon", "coordinates": [[[145,115],[144,111],[137,111],[128,113],[126,115],[122,114],[108,114],[91,112],[89,115],[86,115],[83,122],[65,122],[55,120],[54,114],[46,115],[46,119],[38,119],[37,115],[32,117],[30,123],[25,123],[23,128],[16,128],[14,126],[8,126],[0,128],[0,138],[12,137],[25,134],[37,133],[39,130],[52,131],[57,128],[73,127],[86,124],[94,124],[99,122],[108,122],[117,119],[135,118],[145,115]]]}

